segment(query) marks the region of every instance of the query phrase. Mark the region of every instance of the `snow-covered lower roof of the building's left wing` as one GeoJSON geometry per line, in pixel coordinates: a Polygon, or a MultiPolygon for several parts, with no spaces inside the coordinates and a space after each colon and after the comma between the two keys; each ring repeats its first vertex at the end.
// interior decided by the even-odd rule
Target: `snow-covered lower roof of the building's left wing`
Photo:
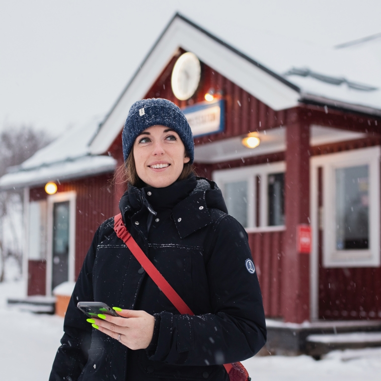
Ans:
{"type": "Polygon", "coordinates": [[[95,117],[83,126],[70,129],[18,167],[12,168],[10,173],[0,178],[0,189],[112,172],[116,165],[113,157],[92,155],[89,150],[100,120],[95,117]]]}

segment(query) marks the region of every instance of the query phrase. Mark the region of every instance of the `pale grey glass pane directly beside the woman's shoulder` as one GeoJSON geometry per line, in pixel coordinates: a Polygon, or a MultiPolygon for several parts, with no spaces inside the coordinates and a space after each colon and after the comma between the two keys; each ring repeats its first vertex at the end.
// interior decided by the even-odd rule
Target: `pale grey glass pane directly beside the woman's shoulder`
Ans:
{"type": "Polygon", "coordinates": [[[247,181],[225,183],[225,203],[230,216],[247,227],[247,181]]]}

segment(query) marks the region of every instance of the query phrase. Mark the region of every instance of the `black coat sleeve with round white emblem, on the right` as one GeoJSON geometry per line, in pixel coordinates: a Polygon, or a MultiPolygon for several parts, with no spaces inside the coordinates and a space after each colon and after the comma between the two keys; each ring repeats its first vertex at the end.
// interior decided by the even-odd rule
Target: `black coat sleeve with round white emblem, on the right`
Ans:
{"type": "Polygon", "coordinates": [[[167,364],[216,365],[254,356],[266,343],[266,323],[247,233],[232,217],[215,226],[207,262],[212,313],[160,313],[156,351],[150,360],[167,364]]]}

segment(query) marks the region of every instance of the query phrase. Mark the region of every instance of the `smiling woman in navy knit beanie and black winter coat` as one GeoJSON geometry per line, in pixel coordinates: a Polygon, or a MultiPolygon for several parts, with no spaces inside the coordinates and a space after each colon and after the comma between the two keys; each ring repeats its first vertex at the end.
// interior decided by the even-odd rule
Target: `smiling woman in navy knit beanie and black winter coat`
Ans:
{"type": "Polygon", "coordinates": [[[222,364],[247,359],[266,342],[247,234],[217,185],[193,173],[192,132],[175,104],[136,102],[122,141],[124,224],[195,315],[179,314],[111,218],[84,260],[50,380],[229,380],[222,364]],[[89,301],[122,317],[86,321],[76,304],[89,301]]]}

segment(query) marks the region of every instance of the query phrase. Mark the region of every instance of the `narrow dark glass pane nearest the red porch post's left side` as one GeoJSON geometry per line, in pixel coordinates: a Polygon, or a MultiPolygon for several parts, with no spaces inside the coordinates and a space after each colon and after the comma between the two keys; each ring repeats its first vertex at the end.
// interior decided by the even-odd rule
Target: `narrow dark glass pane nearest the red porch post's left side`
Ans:
{"type": "Polygon", "coordinates": [[[285,174],[268,175],[268,224],[277,226],[285,224],[285,174]]]}

